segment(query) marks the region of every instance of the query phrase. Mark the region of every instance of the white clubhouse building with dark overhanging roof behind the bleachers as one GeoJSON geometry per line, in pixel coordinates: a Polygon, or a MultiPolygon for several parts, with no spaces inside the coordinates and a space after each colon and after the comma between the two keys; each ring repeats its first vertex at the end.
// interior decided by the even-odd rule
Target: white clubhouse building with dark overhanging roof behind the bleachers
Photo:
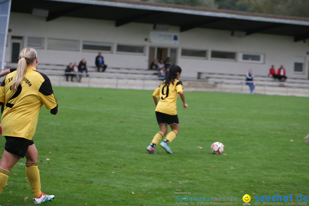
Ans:
{"type": "Polygon", "coordinates": [[[309,18],[112,0],[1,2],[11,8],[4,63],[33,47],[46,64],[85,58],[95,66],[102,52],[116,68],[148,69],[170,57],[188,78],[248,69],[267,75],[271,65],[283,65],[288,77],[309,77],[309,18]]]}

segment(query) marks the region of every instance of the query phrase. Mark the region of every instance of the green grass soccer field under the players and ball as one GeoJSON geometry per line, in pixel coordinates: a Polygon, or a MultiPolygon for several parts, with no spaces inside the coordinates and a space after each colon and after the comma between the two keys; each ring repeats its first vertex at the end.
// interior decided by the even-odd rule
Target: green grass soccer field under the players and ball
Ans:
{"type": "MultiPolygon", "coordinates": [[[[238,205],[245,194],[251,205],[255,196],[309,196],[308,98],[185,92],[173,154],[157,147],[150,155],[146,147],[159,131],[152,91],[53,89],[59,112],[43,107],[33,138],[42,190],[55,195],[46,205],[175,205],[176,195],[188,195],[175,192],[186,191],[237,198],[238,205]],[[226,155],[211,153],[215,141],[226,155]]],[[[0,205],[33,204],[24,163],[11,170],[0,205]]]]}

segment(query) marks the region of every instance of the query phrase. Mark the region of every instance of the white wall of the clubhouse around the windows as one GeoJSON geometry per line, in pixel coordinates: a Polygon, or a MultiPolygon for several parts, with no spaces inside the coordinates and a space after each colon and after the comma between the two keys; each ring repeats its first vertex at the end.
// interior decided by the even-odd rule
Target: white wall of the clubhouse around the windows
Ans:
{"type": "MultiPolygon", "coordinates": [[[[79,62],[86,58],[88,66],[94,66],[94,59],[97,51],[78,52],[47,50],[47,38],[73,39],[82,41],[110,42],[114,44],[112,53],[103,53],[104,59],[109,67],[125,67],[147,69],[149,46],[164,46],[178,49],[177,64],[183,69],[183,77],[197,77],[197,72],[219,72],[229,74],[245,74],[252,69],[256,75],[267,75],[271,65],[279,68],[283,65],[286,68],[288,77],[308,78],[308,40],[294,42],[291,36],[252,34],[244,38],[231,36],[231,32],[223,30],[210,30],[196,28],[186,32],[179,32],[179,27],[171,26],[168,32],[180,35],[179,45],[153,44],[145,41],[149,39],[149,32],[153,31],[152,24],[128,23],[115,27],[114,21],[81,19],[60,17],[46,22],[45,18],[29,14],[11,13],[9,28],[8,47],[6,48],[5,61],[11,58],[11,36],[44,37],[45,48],[36,49],[39,61],[51,64],[68,64],[79,62]],[[116,45],[133,44],[145,45],[144,55],[116,53],[116,45]],[[206,49],[208,59],[194,59],[181,57],[181,48],[206,49]],[[239,61],[213,60],[210,58],[211,50],[248,52],[265,54],[265,61],[262,64],[244,63],[239,61]],[[305,59],[304,72],[294,73],[295,57],[305,59]]],[[[24,43],[26,43],[24,41],[24,43]]],[[[24,47],[26,44],[23,45],[24,47]]]]}

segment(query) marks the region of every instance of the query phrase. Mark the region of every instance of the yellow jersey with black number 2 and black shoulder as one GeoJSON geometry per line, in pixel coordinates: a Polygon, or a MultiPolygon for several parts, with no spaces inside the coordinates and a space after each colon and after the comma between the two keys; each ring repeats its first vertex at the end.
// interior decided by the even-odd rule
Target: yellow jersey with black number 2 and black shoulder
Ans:
{"type": "Polygon", "coordinates": [[[8,74],[0,86],[0,102],[4,103],[1,118],[2,135],[31,140],[36,132],[43,104],[49,110],[57,107],[49,78],[34,67],[27,67],[17,90],[10,90],[16,71],[8,74]]]}

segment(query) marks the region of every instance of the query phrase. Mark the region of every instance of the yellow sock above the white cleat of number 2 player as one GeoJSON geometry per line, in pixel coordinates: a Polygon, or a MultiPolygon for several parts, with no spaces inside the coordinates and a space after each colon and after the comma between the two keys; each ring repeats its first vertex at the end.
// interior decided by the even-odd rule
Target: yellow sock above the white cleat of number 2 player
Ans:
{"type": "Polygon", "coordinates": [[[41,195],[40,170],[38,169],[38,162],[26,164],[26,174],[31,186],[34,197],[41,195]]]}

